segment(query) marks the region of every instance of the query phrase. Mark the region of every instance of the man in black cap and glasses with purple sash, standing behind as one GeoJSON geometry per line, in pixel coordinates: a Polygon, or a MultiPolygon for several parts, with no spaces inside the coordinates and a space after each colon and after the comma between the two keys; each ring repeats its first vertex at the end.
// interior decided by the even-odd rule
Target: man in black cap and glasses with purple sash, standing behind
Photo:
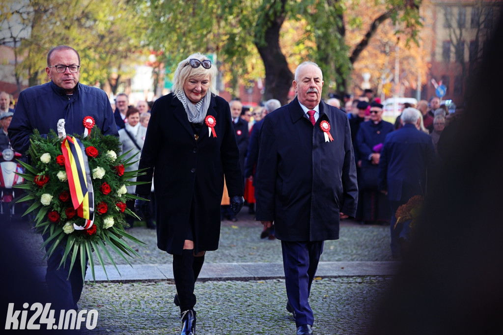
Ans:
{"type": "Polygon", "coordinates": [[[382,143],[394,126],[382,120],[383,106],[370,104],[370,120],[360,125],[356,135],[356,148],[362,160],[358,175],[358,210],[356,219],[360,223],[388,223],[391,217],[389,201],[379,192],[379,158],[382,143]]]}

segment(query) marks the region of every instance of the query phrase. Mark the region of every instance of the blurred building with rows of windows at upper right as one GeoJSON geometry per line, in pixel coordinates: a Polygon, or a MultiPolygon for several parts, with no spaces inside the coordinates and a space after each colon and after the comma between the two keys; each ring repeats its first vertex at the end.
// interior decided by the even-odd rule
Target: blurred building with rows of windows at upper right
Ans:
{"type": "MultiPolygon", "coordinates": [[[[502,0],[432,0],[425,15],[432,20],[431,67],[422,98],[436,96],[445,86],[443,99],[464,102],[468,73],[476,70],[484,56],[485,42],[497,23],[502,0]]],[[[428,41],[425,41],[428,43],[428,41]]]]}

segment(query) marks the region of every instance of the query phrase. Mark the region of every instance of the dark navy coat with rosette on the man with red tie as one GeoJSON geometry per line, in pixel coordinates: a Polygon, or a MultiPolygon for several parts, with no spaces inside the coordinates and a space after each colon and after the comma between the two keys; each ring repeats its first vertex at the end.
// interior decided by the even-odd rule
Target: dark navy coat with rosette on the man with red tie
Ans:
{"type": "Polygon", "coordinates": [[[358,186],[348,116],[319,104],[315,126],[299,101],[266,115],[257,164],[257,220],[284,241],[339,238],[339,213],[356,215],[358,186]],[[330,124],[325,142],[320,121],[330,124]]]}

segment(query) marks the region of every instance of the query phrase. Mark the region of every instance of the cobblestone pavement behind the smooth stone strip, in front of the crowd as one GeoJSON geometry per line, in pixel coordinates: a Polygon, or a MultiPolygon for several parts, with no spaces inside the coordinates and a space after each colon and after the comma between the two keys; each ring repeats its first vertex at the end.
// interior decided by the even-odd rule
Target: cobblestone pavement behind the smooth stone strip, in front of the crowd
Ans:
{"type": "MultiPolygon", "coordinates": [[[[246,212],[247,207],[243,207],[246,212]]],[[[222,221],[218,250],[208,252],[208,263],[277,263],[282,262],[281,243],[279,240],[261,239],[262,224],[255,221],[248,213],[238,214],[237,222],[222,221]]],[[[43,259],[45,252],[38,250],[42,237],[29,229],[28,224],[20,224],[14,234],[28,253],[32,266],[46,266],[43,259]]],[[[128,233],[146,243],[146,246],[130,243],[140,255],[128,258],[131,264],[166,264],[172,263],[172,256],[157,248],[155,230],[135,227],[128,233]]],[[[116,264],[127,264],[124,259],[115,256],[116,264]]],[[[105,257],[105,256],[104,256],[105,257]]],[[[325,241],[321,262],[342,261],[392,261],[389,250],[389,226],[360,225],[350,220],[341,223],[340,239],[325,241]]],[[[97,263],[97,262],[96,262],[97,263]]],[[[111,264],[108,259],[106,264],[111,264]]]]}

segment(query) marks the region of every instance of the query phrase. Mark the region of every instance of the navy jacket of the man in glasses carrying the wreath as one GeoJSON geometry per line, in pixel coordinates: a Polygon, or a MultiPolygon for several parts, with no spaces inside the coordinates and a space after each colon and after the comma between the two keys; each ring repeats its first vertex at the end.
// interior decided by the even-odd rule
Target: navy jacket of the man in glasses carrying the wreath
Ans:
{"type": "Polygon", "coordinates": [[[25,153],[30,146],[33,129],[38,129],[42,135],[50,129],[57,131],[59,119],[65,119],[68,135],[81,135],[85,130],[83,119],[86,116],[93,117],[103,134],[118,136],[112,107],[103,90],[78,83],[73,95],[67,96],[52,81],[30,87],[20,93],[9,126],[12,147],[25,153]]]}

